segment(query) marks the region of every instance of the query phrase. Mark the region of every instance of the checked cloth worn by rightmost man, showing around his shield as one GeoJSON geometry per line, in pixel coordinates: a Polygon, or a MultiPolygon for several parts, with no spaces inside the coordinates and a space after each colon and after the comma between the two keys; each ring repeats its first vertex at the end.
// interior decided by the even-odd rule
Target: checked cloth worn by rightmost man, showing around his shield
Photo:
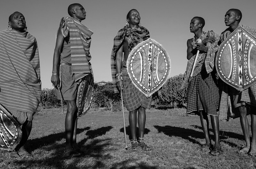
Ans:
{"type": "MultiPolygon", "coordinates": [[[[256,29],[250,26],[245,26],[242,24],[239,24],[240,26],[242,26],[246,31],[250,32],[252,35],[256,36],[256,29]]],[[[220,34],[220,41],[219,41],[219,45],[226,39],[228,39],[229,35],[232,32],[230,31],[230,28],[227,28],[225,31],[223,31],[220,34]]],[[[220,80],[221,81],[221,80],[220,80]]],[[[230,110],[229,110],[229,103],[228,103],[228,85],[225,84],[224,82],[219,82],[219,88],[220,88],[220,105],[219,105],[219,120],[223,120],[223,121],[228,121],[231,120],[233,118],[230,117],[230,110]]],[[[232,101],[232,100],[231,100],[232,101]]],[[[251,87],[249,87],[248,89],[242,91],[242,97],[241,97],[241,101],[246,102],[251,104],[252,106],[256,106],[256,85],[252,85],[251,87]]],[[[235,114],[234,118],[239,117],[239,111],[238,108],[233,108],[233,104],[232,106],[232,112],[235,114]]]]}

